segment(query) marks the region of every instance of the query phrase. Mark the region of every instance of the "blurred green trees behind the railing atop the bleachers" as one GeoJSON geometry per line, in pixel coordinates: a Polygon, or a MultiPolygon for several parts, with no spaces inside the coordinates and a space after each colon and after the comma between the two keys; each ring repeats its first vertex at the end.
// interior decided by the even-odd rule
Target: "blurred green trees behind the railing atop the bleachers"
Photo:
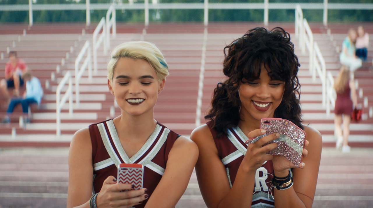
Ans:
{"type": "MultiPolygon", "coordinates": [[[[128,0],[91,0],[95,3],[127,3],[128,0]]],[[[203,3],[203,0],[158,0],[160,3],[203,3]]],[[[143,3],[144,0],[135,0],[143,3]]],[[[209,0],[209,3],[263,3],[263,0],[209,0]]],[[[373,3],[373,0],[328,0],[329,3],[373,3]]],[[[150,0],[151,3],[151,0],[150,0]]],[[[269,3],[323,3],[323,0],[269,0],[269,3]]],[[[0,0],[1,5],[28,5],[28,0],[0,0]]],[[[84,4],[85,0],[37,0],[34,4],[84,4]]],[[[150,10],[151,22],[203,22],[203,10],[169,9],[150,10]]],[[[309,22],[322,22],[323,10],[303,9],[304,18],[309,22]]],[[[91,10],[91,22],[98,22],[106,16],[106,10],[91,10]]],[[[144,22],[144,10],[117,10],[118,22],[144,22]]],[[[211,9],[209,21],[263,21],[264,11],[259,9],[211,9]]],[[[294,10],[269,10],[269,21],[293,22],[294,10]]],[[[85,10],[42,10],[33,11],[35,23],[85,22],[85,10]]],[[[329,22],[372,22],[373,10],[328,10],[329,22]]],[[[0,23],[28,23],[28,11],[1,11],[0,23]]]]}

